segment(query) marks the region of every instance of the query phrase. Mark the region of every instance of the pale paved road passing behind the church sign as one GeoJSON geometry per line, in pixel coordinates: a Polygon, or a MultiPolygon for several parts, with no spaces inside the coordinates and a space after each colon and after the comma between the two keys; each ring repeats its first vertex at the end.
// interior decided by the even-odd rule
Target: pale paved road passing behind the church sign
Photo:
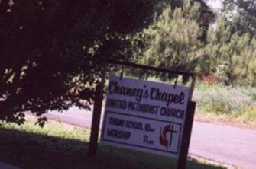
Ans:
{"type": "MultiPolygon", "coordinates": [[[[47,117],[76,126],[90,127],[92,112],[73,107],[47,117]]],[[[256,168],[256,131],[194,122],[190,155],[241,168],[256,168]]]]}

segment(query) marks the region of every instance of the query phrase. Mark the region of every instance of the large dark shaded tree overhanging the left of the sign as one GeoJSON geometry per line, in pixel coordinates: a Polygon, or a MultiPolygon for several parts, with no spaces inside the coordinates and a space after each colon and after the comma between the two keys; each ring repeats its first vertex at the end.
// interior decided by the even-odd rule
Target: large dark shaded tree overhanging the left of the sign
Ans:
{"type": "Polygon", "coordinates": [[[127,59],[128,35],[150,23],[154,0],[0,1],[0,118],[92,103],[103,59],[127,59]]]}

